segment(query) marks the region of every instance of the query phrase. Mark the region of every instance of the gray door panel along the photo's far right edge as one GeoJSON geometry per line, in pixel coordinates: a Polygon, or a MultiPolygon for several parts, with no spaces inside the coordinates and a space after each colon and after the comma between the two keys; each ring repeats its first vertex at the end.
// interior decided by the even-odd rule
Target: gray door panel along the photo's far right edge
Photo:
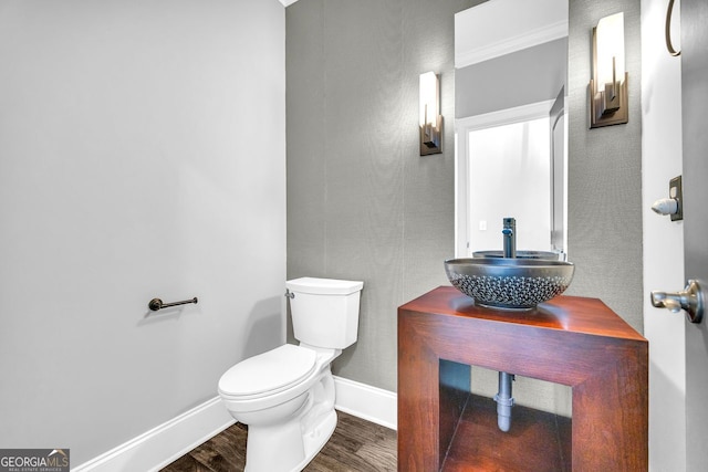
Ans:
{"type": "MultiPolygon", "coordinates": [[[[708,2],[681,0],[684,262],[708,283],[708,2]]],[[[708,323],[686,326],[686,465],[708,464],[708,323]]]]}

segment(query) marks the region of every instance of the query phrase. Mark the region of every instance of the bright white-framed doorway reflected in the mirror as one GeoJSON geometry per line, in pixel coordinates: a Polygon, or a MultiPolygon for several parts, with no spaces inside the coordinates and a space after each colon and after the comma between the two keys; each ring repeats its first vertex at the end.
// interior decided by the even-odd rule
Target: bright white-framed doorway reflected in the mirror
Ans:
{"type": "Polygon", "coordinates": [[[467,251],[500,249],[502,220],[517,220],[519,250],[551,250],[552,102],[458,119],[456,132],[467,191],[467,251]]]}

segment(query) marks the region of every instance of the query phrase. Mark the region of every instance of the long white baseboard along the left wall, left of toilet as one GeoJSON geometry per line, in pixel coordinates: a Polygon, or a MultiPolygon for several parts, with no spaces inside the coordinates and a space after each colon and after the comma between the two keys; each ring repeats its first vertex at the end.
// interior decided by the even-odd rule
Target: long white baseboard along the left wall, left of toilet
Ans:
{"type": "Polygon", "coordinates": [[[236,421],[219,397],[112,449],[72,472],[158,471],[236,421]]]}

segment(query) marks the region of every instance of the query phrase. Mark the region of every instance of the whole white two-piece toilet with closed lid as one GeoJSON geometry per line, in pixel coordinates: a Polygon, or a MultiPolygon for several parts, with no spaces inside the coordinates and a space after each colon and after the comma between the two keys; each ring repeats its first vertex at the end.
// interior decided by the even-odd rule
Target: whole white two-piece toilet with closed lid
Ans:
{"type": "Polygon", "coordinates": [[[363,282],[285,282],[298,346],[285,344],[231,367],[219,396],[248,424],[246,472],[301,471],[336,427],[330,365],[356,342],[363,282]]]}

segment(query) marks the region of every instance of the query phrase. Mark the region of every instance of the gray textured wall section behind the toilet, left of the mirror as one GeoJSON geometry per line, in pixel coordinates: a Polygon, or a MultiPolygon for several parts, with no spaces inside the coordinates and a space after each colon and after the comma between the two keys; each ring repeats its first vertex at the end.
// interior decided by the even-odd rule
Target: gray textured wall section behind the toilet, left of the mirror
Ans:
{"type": "Polygon", "coordinates": [[[300,0],[285,10],[288,276],[364,281],[336,375],[396,390],[396,308],[454,256],[454,14],[470,0],[300,0]],[[440,74],[444,154],[418,151],[440,74]]]}

